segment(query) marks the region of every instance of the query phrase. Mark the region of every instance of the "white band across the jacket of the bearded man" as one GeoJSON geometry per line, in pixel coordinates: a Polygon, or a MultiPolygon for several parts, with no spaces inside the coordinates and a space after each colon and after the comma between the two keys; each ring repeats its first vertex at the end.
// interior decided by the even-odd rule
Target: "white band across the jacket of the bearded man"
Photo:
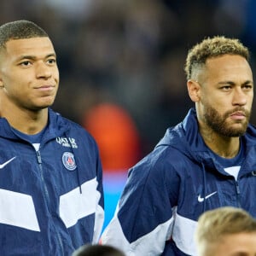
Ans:
{"type": "Polygon", "coordinates": [[[161,255],[166,241],[172,236],[172,240],[183,253],[196,255],[194,233],[197,222],[178,215],[177,207],[173,207],[172,212],[172,218],[163,224],[159,224],[150,233],[131,243],[125,238],[124,232],[119,224],[119,218],[115,215],[102,234],[102,244],[119,247],[127,256],[156,256],[161,255]]]}

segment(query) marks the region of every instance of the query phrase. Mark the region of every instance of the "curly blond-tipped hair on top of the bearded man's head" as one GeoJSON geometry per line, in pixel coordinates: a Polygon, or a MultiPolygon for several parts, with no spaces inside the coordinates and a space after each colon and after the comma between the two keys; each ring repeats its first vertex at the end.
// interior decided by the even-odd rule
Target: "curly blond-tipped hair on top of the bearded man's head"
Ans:
{"type": "Polygon", "coordinates": [[[238,39],[225,38],[224,36],[206,38],[189,49],[184,67],[187,79],[193,79],[194,69],[206,64],[207,59],[220,55],[241,55],[247,61],[249,60],[247,47],[241,44],[238,39]]]}

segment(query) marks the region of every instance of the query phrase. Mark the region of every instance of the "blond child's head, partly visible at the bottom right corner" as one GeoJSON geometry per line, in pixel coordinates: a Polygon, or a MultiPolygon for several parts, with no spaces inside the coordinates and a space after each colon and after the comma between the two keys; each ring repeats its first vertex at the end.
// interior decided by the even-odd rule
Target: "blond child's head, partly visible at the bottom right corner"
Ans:
{"type": "Polygon", "coordinates": [[[198,256],[255,256],[256,219],[235,207],[204,212],[195,241],[198,256]]]}

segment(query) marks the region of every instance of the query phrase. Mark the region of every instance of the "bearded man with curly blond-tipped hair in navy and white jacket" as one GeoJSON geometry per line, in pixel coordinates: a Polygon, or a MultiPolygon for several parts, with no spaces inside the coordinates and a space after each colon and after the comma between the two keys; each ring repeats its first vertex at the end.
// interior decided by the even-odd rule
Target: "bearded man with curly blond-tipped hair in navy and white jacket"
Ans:
{"type": "Polygon", "coordinates": [[[232,206],[256,217],[248,61],[247,47],[236,38],[206,38],[189,49],[185,72],[195,108],[130,169],[103,244],[127,256],[195,255],[202,212],[232,206]]]}

